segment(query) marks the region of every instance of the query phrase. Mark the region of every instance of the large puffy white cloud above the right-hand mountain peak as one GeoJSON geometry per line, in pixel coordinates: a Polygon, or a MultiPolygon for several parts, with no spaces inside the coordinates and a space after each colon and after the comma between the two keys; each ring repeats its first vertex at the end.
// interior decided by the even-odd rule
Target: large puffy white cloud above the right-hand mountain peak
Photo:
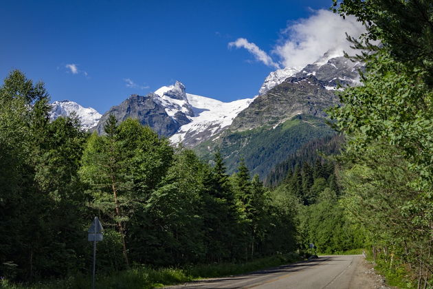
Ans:
{"type": "Polygon", "coordinates": [[[335,54],[354,54],[346,32],[357,37],[365,28],[355,17],[343,19],[329,10],[313,11],[311,17],[289,23],[272,53],[284,67],[304,67],[330,50],[335,54]]]}

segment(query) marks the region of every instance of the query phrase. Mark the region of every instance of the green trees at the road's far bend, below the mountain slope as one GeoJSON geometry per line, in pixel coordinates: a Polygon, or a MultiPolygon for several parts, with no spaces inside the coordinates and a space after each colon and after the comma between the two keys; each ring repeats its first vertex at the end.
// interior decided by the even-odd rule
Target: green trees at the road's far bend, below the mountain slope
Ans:
{"type": "Polygon", "coordinates": [[[298,165],[274,190],[274,195],[291,198],[292,206],[298,203],[295,226],[301,251],[335,254],[364,246],[364,230],[346,217],[338,191],[335,167],[329,160],[298,165]]]}

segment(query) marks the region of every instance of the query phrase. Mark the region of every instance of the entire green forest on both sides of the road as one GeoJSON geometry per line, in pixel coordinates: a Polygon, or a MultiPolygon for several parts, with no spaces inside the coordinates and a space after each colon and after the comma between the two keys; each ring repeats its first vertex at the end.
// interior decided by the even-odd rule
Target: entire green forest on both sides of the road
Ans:
{"type": "MultiPolygon", "coordinates": [[[[429,0],[334,0],[366,26],[348,41],[362,85],[331,107],[336,136],[304,144],[265,185],[242,156],[227,174],[114,116],[99,136],[49,119],[49,94],[14,70],[0,87],[0,284],[91,274],[87,229],[98,216],[98,272],[245,264],[364,248],[403,288],[431,288],[433,6],[429,0]]],[[[13,287],[11,287],[13,288],[13,287]]],[[[120,287],[119,287],[120,288],[120,287]]]]}

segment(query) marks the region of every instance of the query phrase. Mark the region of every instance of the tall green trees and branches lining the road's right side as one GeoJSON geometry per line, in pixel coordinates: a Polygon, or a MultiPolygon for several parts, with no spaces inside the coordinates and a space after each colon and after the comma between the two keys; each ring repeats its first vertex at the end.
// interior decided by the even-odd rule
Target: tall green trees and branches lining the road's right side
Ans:
{"type": "MultiPolygon", "coordinates": [[[[409,0],[334,1],[342,15],[366,23],[362,86],[344,89],[331,110],[348,135],[343,200],[366,228],[374,259],[390,275],[408,268],[418,288],[432,278],[433,53],[432,3],[409,0]],[[380,41],[376,46],[371,40],[380,41]]],[[[430,283],[431,286],[431,283],[430,283]]]]}

